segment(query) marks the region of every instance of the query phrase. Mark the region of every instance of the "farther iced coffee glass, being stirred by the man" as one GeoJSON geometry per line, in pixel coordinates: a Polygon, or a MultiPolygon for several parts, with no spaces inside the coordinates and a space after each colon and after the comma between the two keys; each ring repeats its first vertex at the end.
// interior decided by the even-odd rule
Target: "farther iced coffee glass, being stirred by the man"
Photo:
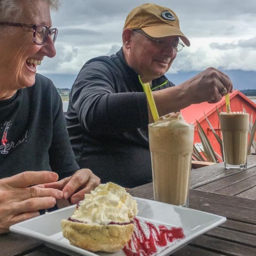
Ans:
{"type": "Polygon", "coordinates": [[[247,165],[249,114],[219,114],[224,164],[226,169],[242,170],[247,165]]]}

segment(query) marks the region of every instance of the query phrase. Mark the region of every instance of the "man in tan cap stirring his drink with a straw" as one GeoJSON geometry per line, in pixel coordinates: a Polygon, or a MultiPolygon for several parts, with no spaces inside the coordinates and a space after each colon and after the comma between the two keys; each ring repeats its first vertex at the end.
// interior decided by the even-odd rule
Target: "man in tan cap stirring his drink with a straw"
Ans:
{"type": "Polygon", "coordinates": [[[159,115],[218,102],[232,91],[232,83],[215,68],[178,86],[168,81],[165,73],[178,52],[184,44],[190,46],[169,8],[134,8],[122,38],[116,54],[82,67],[70,93],[66,123],[78,165],[89,166],[102,182],[134,187],[152,181],[147,125],[153,118],[139,76],[150,83],[159,115]]]}

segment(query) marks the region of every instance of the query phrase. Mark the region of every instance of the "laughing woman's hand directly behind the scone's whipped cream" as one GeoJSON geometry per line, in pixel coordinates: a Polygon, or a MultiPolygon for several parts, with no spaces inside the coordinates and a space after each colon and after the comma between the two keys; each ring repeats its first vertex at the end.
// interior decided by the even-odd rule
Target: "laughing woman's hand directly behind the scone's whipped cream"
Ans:
{"type": "Polygon", "coordinates": [[[77,204],[84,199],[84,194],[90,193],[101,183],[101,179],[89,169],[80,169],[72,176],[57,182],[44,184],[45,188],[62,190],[63,199],[70,198],[71,204],[77,204]]]}

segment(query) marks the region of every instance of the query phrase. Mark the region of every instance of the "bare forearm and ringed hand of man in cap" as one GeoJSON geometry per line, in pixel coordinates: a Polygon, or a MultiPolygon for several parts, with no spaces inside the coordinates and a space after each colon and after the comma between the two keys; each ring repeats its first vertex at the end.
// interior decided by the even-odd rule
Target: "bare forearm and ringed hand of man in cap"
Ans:
{"type": "MultiPolygon", "coordinates": [[[[210,67],[178,86],[153,91],[153,97],[158,114],[162,116],[179,111],[191,104],[219,102],[232,90],[230,78],[218,69],[210,67]]],[[[149,106],[148,113],[149,123],[152,123],[149,106]]]]}

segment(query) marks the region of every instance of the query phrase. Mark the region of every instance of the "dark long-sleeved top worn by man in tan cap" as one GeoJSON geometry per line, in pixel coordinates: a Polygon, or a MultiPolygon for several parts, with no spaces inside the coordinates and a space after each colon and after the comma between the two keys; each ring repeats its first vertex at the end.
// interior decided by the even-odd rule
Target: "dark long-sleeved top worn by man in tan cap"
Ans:
{"type": "MultiPolygon", "coordinates": [[[[170,86],[165,76],[152,82],[155,90],[170,86]]],[[[131,188],[152,181],[147,99],[122,50],[82,67],[66,123],[78,165],[90,168],[102,183],[131,188]]]]}

